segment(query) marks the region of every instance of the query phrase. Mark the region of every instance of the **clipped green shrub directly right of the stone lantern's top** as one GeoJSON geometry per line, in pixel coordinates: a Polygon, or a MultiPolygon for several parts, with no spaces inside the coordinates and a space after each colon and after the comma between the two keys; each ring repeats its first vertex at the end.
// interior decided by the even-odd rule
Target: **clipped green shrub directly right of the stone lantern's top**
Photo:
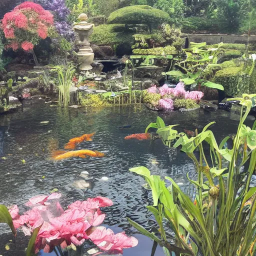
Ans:
{"type": "Polygon", "coordinates": [[[120,44],[127,44],[131,47],[134,38],[131,33],[125,31],[123,24],[110,24],[95,26],[90,41],[97,45],[115,45],[117,47],[120,44]]]}

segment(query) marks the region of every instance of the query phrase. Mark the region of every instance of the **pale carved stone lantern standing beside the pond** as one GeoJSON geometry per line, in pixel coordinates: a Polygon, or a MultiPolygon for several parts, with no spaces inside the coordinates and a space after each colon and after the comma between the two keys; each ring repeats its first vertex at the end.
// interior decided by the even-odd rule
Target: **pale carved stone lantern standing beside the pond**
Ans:
{"type": "Polygon", "coordinates": [[[73,30],[75,31],[75,44],[79,46],[78,61],[80,70],[90,70],[93,63],[94,53],[89,43],[89,36],[93,31],[93,25],[88,23],[88,19],[85,13],[82,13],[78,16],[78,23],[75,23],[73,30]]]}

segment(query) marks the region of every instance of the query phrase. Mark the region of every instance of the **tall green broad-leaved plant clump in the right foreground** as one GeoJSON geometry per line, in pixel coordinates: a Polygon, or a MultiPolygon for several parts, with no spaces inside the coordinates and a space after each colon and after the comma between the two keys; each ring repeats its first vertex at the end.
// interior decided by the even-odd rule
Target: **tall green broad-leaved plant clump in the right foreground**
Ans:
{"type": "Polygon", "coordinates": [[[252,129],[244,124],[255,96],[243,94],[242,98],[229,99],[240,101],[240,121],[236,135],[225,137],[219,145],[208,129],[214,122],[200,133],[196,129],[195,136],[190,138],[174,130],[175,125],[165,126],[160,117],[147,126],[145,132],[157,128],[156,133],[165,145],[181,146],[181,151],[194,162],[197,173],[197,180],[187,174],[195,194],[190,198],[171,177],[163,180],[142,166],[130,169],[142,175],[152,190],[153,205],[147,208],[155,216],[159,234],[150,233],[131,219],[128,221],[154,240],[154,245],[163,246],[167,255],[171,251],[176,255],[255,255],[256,187],[250,186],[250,181],[256,167],[256,121],[252,129]],[[231,149],[225,146],[229,139],[231,149]],[[210,160],[204,153],[206,145],[210,160]]]}

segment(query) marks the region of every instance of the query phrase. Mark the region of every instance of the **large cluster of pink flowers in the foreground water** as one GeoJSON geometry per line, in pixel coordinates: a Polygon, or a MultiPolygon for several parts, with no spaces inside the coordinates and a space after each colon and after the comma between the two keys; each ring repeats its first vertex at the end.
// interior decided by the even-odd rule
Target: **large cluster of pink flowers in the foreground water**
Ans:
{"type": "MultiPolygon", "coordinates": [[[[110,199],[102,196],[87,198],[85,201],[69,204],[64,210],[58,201],[60,197],[61,194],[56,192],[33,196],[25,203],[30,209],[22,215],[19,214],[17,205],[9,209],[14,227],[21,228],[25,235],[33,233],[34,237],[30,240],[34,243],[34,253],[40,249],[51,252],[55,246],[65,249],[71,245],[75,248],[86,240],[92,241],[102,251],[114,253],[122,253],[123,248],[137,245],[137,239],[128,237],[124,232],[114,234],[111,229],[98,226],[105,218],[100,207],[113,205],[110,199]]],[[[4,207],[0,205],[0,209],[4,207]]],[[[8,215],[8,210],[5,211],[8,215]]],[[[32,245],[30,243],[28,246],[29,252],[32,245]]]]}

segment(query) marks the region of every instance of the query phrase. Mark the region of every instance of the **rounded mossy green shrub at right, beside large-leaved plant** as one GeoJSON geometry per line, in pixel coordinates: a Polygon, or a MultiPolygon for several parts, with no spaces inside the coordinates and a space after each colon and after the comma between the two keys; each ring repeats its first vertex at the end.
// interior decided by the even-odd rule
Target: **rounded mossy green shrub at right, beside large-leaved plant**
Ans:
{"type": "Polygon", "coordinates": [[[249,93],[249,77],[241,67],[227,67],[216,72],[213,81],[222,84],[225,94],[238,96],[249,93]]]}

